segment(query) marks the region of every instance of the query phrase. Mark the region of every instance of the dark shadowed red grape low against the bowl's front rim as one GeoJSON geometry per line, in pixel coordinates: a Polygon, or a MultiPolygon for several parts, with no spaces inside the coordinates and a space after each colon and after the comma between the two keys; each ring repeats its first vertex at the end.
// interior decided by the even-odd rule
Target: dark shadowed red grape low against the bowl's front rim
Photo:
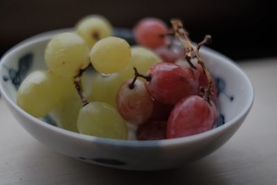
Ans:
{"type": "Polygon", "coordinates": [[[138,140],[158,140],[166,139],[166,121],[150,120],[143,125],[139,125],[136,130],[138,140]]]}

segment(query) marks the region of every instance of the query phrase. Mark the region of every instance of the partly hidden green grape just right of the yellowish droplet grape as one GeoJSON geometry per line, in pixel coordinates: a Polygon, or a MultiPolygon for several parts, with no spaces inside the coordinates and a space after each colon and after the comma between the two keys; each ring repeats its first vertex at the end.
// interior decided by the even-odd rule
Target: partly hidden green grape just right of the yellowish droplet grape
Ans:
{"type": "Polygon", "coordinates": [[[129,64],[119,72],[119,76],[123,81],[134,78],[134,67],[136,67],[139,73],[146,74],[153,64],[162,61],[158,55],[143,46],[132,46],[131,51],[132,58],[129,64]]]}

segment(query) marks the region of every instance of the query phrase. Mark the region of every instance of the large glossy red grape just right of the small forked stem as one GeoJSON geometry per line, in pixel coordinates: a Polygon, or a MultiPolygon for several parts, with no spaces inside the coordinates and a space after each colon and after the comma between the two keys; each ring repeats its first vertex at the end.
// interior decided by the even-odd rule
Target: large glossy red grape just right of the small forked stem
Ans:
{"type": "Polygon", "coordinates": [[[160,62],[149,69],[148,75],[151,80],[146,88],[152,98],[161,103],[175,105],[182,98],[197,94],[193,69],[184,70],[177,64],[160,62]]]}

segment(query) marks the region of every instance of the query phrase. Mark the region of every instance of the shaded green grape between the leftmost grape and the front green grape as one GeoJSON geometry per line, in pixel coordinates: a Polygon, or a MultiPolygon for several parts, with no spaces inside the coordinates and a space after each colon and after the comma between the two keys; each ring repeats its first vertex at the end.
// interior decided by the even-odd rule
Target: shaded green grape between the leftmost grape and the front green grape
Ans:
{"type": "Polygon", "coordinates": [[[60,109],[60,121],[64,129],[78,132],[77,118],[81,108],[82,102],[77,93],[72,94],[64,100],[60,109]]]}

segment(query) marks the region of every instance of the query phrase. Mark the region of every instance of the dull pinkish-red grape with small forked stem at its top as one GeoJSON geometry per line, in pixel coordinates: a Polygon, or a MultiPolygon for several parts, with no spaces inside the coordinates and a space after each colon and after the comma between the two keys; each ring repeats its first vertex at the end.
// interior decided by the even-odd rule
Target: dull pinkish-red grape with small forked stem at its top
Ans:
{"type": "Polygon", "coordinates": [[[118,89],[116,105],[126,121],[140,125],[152,115],[153,100],[141,80],[134,82],[134,89],[129,87],[131,83],[132,80],[127,80],[118,89]]]}

